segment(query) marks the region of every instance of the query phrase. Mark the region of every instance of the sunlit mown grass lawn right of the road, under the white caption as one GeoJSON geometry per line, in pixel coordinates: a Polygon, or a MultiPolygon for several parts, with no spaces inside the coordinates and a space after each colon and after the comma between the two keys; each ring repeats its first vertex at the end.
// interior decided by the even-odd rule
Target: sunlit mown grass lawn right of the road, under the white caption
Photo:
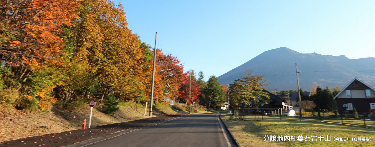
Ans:
{"type": "MultiPolygon", "coordinates": [[[[320,147],[342,146],[359,147],[375,146],[375,129],[358,126],[340,125],[335,123],[308,122],[308,121],[243,121],[233,118],[233,115],[222,115],[226,125],[242,147],[320,147]],[[231,118],[232,120],[229,120],[231,118]],[[331,141],[295,141],[295,142],[267,142],[264,137],[268,135],[298,136],[324,135],[331,137],[331,141]],[[374,141],[334,141],[335,137],[371,137],[374,141]]],[[[297,138],[297,137],[296,137],[297,138]]],[[[309,138],[308,140],[311,140],[309,138]]]]}

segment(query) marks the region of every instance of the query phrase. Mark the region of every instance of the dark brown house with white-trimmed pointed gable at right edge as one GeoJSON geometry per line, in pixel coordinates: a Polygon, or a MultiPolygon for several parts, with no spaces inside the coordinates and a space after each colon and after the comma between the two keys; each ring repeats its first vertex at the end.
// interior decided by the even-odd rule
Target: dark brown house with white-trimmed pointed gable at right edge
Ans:
{"type": "Polygon", "coordinates": [[[354,78],[345,86],[334,99],[337,101],[338,110],[358,113],[369,113],[375,109],[375,90],[365,82],[354,78]]]}

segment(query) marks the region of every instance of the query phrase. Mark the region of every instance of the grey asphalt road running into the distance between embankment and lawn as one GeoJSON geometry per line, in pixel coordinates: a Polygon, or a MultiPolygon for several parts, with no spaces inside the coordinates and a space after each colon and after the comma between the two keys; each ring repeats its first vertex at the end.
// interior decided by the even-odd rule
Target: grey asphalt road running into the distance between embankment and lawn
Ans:
{"type": "Polygon", "coordinates": [[[228,147],[217,113],[172,118],[87,147],[228,147]]]}

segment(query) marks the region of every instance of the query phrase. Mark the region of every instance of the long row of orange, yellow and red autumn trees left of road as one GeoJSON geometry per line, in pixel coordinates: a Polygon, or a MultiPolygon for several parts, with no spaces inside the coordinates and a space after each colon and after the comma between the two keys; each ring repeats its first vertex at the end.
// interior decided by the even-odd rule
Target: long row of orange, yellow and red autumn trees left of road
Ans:
{"type": "MultiPolygon", "coordinates": [[[[153,49],[132,34],[125,14],[107,0],[0,1],[0,104],[45,111],[114,97],[149,101],[153,49]]],[[[156,54],[154,100],[186,101],[189,72],[177,57],[156,54]]],[[[192,99],[202,97],[202,80],[192,99]]]]}

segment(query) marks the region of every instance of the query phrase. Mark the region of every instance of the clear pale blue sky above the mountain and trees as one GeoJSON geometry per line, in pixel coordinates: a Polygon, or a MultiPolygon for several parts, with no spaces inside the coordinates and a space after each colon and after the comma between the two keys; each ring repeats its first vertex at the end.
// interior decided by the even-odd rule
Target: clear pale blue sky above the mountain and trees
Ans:
{"type": "MultiPolygon", "coordinates": [[[[288,47],[375,57],[374,0],[114,0],[134,34],[207,80],[264,51],[288,47]]],[[[291,65],[294,66],[294,65],[291,65]]],[[[302,66],[302,65],[301,65],[302,66]]]]}

